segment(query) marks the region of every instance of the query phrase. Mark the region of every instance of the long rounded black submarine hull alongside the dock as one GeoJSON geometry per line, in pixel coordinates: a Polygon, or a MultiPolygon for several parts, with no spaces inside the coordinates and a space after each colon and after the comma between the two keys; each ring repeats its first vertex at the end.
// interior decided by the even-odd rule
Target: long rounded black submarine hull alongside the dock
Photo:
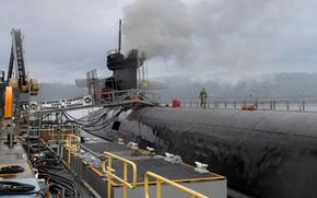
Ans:
{"type": "Polygon", "coordinates": [[[317,196],[317,114],[142,107],[115,123],[93,132],[207,163],[230,187],[256,197],[317,196]]]}

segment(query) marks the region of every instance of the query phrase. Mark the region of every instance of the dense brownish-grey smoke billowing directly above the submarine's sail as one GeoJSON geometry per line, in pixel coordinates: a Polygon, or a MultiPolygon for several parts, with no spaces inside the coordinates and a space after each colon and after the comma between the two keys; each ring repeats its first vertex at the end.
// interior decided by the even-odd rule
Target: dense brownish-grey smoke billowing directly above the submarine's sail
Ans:
{"type": "Polygon", "coordinates": [[[179,0],[134,0],[125,9],[125,45],[148,58],[184,59],[192,48],[192,23],[179,0]]]}

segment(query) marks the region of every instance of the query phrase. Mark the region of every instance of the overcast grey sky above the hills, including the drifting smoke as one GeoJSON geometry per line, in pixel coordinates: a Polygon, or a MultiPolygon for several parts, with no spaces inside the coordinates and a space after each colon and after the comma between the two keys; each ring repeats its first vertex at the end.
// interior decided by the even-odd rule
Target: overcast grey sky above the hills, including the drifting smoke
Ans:
{"type": "Polygon", "coordinates": [[[151,58],[150,77],[239,79],[317,71],[317,0],[0,0],[0,67],[7,72],[12,27],[22,28],[30,73],[73,82],[105,68],[117,47],[151,58]]]}

